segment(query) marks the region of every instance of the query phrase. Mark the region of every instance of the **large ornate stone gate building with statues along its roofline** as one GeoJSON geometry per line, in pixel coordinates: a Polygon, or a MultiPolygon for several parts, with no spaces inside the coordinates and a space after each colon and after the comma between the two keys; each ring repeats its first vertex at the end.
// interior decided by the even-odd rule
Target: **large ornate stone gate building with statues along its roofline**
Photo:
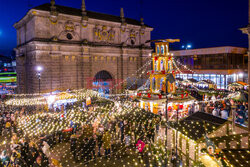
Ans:
{"type": "MultiPolygon", "coordinates": [[[[37,66],[42,66],[41,92],[81,89],[94,80],[117,84],[150,59],[152,27],[120,16],[55,5],[32,8],[17,30],[18,93],[38,92],[37,66]]],[[[136,74],[139,76],[139,73],[136,74]]],[[[126,83],[122,85],[122,88],[126,83]]],[[[117,92],[116,88],[116,92],[117,92]]]]}

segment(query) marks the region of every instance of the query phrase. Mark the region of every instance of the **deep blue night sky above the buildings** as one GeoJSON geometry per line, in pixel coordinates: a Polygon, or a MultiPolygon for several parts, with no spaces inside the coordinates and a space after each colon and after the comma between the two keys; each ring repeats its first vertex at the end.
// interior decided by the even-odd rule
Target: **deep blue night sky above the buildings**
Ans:
{"type": "MultiPolygon", "coordinates": [[[[13,24],[30,6],[49,1],[0,0],[0,54],[7,55],[16,46],[13,24]]],[[[247,25],[248,0],[142,0],[142,5],[140,1],[86,0],[86,6],[114,15],[123,7],[125,16],[135,19],[142,13],[145,23],[154,27],[152,39],[180,38],[179,45],[190,43],[193,48],[247,47],[247,36],[238,29],[247,25]]],[[[56,4],[80,8],[81,0],[56,0],[56,4]]]]}

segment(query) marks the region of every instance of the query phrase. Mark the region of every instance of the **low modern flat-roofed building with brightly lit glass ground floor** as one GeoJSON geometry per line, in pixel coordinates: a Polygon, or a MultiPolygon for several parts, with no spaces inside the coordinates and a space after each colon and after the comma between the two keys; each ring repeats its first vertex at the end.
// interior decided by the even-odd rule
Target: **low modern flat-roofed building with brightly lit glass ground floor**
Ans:
{"type": "Polygon", "coordinates": [[[247,48],[225,46],[172,53],[181,71],[177,78],[211,80],[219,89],[225,89],[228,84],[236,81],[248,82],[247,48]]]}

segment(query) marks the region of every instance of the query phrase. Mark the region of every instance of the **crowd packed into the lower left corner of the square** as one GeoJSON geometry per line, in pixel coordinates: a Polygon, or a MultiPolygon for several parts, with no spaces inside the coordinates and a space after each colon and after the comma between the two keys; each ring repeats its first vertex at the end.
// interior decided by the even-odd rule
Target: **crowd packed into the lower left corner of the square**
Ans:
{"type": "Polygon", "coordinates": [[[59,166],[56,159],[49,159],[48,136],[28,138],[18,130],[17,119],[32,113],[24,108],[1,107],[0,167],[59,166]]]}

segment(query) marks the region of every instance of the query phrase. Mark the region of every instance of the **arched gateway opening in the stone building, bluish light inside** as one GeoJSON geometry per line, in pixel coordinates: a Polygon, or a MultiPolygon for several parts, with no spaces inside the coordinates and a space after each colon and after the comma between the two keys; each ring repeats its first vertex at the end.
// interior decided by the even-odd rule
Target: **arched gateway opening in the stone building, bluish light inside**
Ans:
{"type": "Polygon", "coordinates": [[[105,70],[96,73],[93,81],[93,89],[101,94],[109,94],[110,88],[113,87],[114,78],[105,70]]]}

